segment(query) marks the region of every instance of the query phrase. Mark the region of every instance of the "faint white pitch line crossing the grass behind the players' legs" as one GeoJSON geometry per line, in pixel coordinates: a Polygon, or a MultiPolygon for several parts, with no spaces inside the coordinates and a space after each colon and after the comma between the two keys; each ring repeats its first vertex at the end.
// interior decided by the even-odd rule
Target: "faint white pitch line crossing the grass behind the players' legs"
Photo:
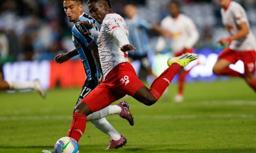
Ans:
{"type": "MultiPolygon", "coordinates": [[[[256,118],[256,114],[210,114],[210,115],[134,115],[140,119],[197,119],[197,118],[256,118]]],[[[0,117],[0,121],[36,121],[36,120],[71,120],[72,116],[9,116],[0,117]]],[[[112,118],[119,120],[119,117],[112,118]]]]}

